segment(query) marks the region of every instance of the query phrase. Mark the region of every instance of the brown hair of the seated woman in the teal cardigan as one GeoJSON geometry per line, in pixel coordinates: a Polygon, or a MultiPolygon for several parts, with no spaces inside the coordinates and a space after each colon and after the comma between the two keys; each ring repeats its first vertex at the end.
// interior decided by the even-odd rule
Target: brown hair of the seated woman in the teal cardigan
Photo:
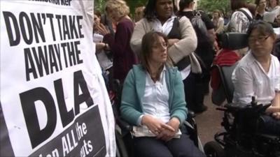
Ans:
{"type": "Polygon", "coordinates": [[[144,68],[147,71],[150,71],[148,67],[148,59],[150,59],[151,54],[153,52],[153,44],[156,41],[158,41],[158,38],[160,36],[165,39],[166,43],[168,43],[167,36],[165,36],[164,33],[160,33],[158,31],[150,31],[146,33],[142,38],[142,43],[141,43],[142,52],[140,54],[140,59],[141,59],[141,64],[144,66],[144,68]]]}

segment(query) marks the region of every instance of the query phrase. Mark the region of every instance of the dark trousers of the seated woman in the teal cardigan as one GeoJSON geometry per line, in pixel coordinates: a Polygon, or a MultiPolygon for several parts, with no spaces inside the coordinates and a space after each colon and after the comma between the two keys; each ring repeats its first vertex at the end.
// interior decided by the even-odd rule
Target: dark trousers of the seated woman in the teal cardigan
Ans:
{"type": "Polygon", "coordinates": [[[204,157],[186,134],[168,142],[155,137],[134,137],[134,154],[137,157],[204,157]]]}

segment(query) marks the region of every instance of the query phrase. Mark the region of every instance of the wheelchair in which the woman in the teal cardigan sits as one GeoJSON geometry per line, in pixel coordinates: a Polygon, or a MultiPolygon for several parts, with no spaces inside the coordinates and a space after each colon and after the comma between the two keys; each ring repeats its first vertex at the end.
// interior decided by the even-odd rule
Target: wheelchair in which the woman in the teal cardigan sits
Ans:
{"type": "MultiPolygon", "coordinates": [[[[113,90],[109,92],[109,97],[113,107],[113,113],[116,120],[115,132],[116,132],[116,156],[117,157],[133,157],[133,136],[132,128],[130,124],[124,121],[120,117],[120,101],[121,101],[122,85],[118,80],[113,80],[113,90]]],[[[192,111],[188,112],[188,119],[184,122],[183,125],[186,126],[188,130],[188,135],[190,140],[193,140],[194,144],[203,151],[202,142],[197,133],[197,124],[195,122],[195,113],[192,111]]]]}

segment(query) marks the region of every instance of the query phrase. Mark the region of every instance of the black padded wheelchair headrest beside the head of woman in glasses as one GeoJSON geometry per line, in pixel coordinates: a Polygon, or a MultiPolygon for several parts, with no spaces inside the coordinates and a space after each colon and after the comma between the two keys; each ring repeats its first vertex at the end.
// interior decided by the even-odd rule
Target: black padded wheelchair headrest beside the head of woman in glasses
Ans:
{"type": "Polygon", "coordinates": [[[218,45],[221,48],[230,50],[239,50],[248,47],[246,33],[228,32],[218,34],[218,45]]]}

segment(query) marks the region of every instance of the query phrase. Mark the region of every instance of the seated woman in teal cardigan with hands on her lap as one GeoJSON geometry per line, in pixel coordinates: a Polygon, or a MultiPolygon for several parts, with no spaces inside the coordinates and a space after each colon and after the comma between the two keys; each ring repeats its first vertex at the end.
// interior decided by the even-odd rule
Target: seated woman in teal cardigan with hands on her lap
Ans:
{"type": "Polygon", "coordinates": [[[137,126],[137,156],[204,156],[186,134],[187,117],[181,74],[167,61],[167,37],[149,32],[142,38],[141,64],[134,66],[123,84],[120,113],[137,126]]]}

